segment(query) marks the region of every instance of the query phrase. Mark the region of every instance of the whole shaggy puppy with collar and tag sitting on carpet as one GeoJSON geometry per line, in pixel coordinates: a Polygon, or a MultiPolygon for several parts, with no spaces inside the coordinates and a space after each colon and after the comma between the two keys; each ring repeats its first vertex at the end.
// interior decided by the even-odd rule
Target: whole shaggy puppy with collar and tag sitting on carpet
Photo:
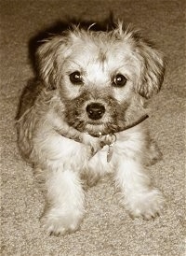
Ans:
{"type": "Polygon", "coordinates": [[[84,185],[107,174],[132,217],[151,220],[165,203],[148,174],[161,153],[145,121],[145,104],[163,83],[164,55],[121,21],[108,31],[93,27],[73,25],[44,40],[36,96],[17,121],[20,151],[45,184],[49,235],[79,228],[84,185]]]}

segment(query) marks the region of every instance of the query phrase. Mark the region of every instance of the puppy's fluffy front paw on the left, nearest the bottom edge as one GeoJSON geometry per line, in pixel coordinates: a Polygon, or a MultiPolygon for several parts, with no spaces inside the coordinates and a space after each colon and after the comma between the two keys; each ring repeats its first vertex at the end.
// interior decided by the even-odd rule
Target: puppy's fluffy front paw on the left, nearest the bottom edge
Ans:
{"type": "Polygon", "coordinates": [[[61,209],[50,209],[42,218],[42,226],[48,235],[65,235],[75,232],[83,219],[83,213],[73,210],[67,213],[61,209]]]}

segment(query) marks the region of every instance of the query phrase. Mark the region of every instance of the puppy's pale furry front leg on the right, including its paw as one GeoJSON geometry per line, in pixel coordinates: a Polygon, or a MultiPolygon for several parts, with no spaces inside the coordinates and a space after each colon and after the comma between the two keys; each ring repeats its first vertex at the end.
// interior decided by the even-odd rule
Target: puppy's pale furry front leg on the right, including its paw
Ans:
{"type": "Polygon", "coordinates": [[[153,188],[151,179],[140,163],[124,159],[119,164],[115,179],[125,196],[124,205],[131,216],[150,220],[161,212],[164,198],[161,192],[153,188]]]}

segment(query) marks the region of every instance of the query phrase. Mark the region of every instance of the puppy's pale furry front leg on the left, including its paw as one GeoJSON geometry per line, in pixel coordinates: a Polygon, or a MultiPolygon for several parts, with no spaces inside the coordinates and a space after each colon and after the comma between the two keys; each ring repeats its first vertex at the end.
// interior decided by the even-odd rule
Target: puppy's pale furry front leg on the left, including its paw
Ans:
{"type": "Polygon", "coordinates": [[[46,179],[47,209],[43,226],[50,235],[64,235],[77,230],[84,216],[85,194],[78,175],[58,169],[46,179]]]}

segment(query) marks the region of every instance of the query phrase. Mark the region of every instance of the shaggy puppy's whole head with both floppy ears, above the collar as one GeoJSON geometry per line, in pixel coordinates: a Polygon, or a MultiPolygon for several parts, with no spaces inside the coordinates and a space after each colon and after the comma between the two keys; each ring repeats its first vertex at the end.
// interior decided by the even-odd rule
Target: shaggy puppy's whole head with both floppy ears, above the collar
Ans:
{"type": "Polygon", "coordinates": [[[38,63],[47,90],[60,93],[65,121],[90,134],[124,126],[134,102],[160,90],[165,70],[161,53],[122,24],[54,36],[38,50],[38,63]]]}

